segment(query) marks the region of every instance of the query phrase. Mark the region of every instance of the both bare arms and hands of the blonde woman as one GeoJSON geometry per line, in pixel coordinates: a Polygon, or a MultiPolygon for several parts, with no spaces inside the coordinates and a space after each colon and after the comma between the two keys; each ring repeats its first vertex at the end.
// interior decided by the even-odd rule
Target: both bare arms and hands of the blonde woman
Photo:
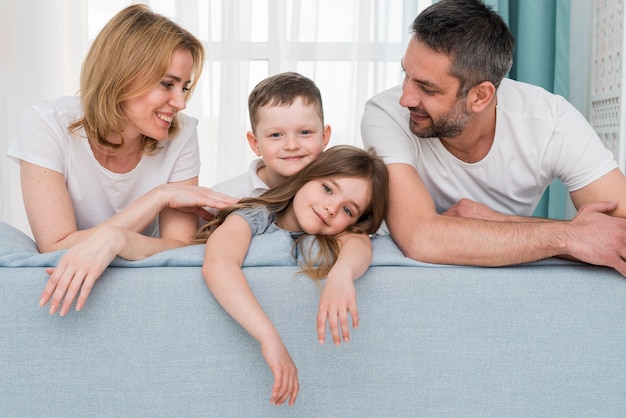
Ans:
{"type": "Polygon", "coordinates": [[[224,207],[236,199],[197,186],[197,178],[158,186],[100,225],[78,230],[62,174],[22,161],[22,193],[29,223],[41,252],[68,249],[39,299],[49,312],[65,315],[79,294],[76,310],[87,301],[95,281],[115,256],[137,260],[191,243],[198,227],[192,213],[201,206],[224,207]],[[184,210],[192,211],[190,213],[184,210]],[[161,238],[140,233],[162,212],[161,238]]]}

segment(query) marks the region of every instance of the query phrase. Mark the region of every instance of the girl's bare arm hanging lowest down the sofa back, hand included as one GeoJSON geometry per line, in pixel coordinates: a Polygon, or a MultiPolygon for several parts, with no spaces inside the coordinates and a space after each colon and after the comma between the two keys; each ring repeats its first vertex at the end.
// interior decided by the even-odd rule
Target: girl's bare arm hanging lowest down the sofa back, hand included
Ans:
{"type": "Polygon", "coordinates": [[[281,405],[289,399],[291,406],[298,395],[298,371],[241,270],[251,239],[245,219],[226,218],[207,240],[202,275],[220,305],[259,342],[274,376],[270,402],[281,405]]]}

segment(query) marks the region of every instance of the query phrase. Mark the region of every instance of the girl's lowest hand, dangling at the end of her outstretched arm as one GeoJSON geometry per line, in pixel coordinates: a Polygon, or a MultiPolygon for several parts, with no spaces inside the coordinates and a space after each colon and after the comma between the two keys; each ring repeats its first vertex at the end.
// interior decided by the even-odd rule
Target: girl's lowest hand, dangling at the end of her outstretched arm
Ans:
{"type": "Polygon", "coordinates": [[[287,348],[278,338],[268,344],[261,344],[261,353],[274,375],[274,386],[270,402],[276,406],[282,405],[289,399],[289,406],[293,406],[298,397],[298,370],[287,348]]]}

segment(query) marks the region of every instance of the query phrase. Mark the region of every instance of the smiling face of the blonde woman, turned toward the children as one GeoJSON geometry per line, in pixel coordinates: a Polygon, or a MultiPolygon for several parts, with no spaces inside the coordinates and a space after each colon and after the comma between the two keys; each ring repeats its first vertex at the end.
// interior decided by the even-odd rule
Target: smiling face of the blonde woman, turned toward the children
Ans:
{"type": "Polygon", "coordinates": [[[144,135],[159,141],[168,138],[174,116],[186,107],[185,92],[191,82],[192,69],[191,52],[177,49],[159,85],[124,102],[126,141],[139,140],[144,135]]]}

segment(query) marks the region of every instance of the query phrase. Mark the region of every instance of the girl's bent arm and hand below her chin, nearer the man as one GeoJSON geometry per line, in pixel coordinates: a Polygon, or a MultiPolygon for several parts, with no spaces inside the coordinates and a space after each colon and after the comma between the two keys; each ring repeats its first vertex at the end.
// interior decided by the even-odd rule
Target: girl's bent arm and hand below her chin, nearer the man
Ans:
{"type": "Polygon", "coordinates": [[[326,320],[335,345],[350,341],[348,312],[352,326],[359,326],[354,280],[361,277],[372,262],[372,242],[365,234],[343,234],[339,238],[339,256],[326,278],[317,313],[317,338],[326,339],[326,320]],[[341,334],[339,333],[341,327],[341,334]]]}

